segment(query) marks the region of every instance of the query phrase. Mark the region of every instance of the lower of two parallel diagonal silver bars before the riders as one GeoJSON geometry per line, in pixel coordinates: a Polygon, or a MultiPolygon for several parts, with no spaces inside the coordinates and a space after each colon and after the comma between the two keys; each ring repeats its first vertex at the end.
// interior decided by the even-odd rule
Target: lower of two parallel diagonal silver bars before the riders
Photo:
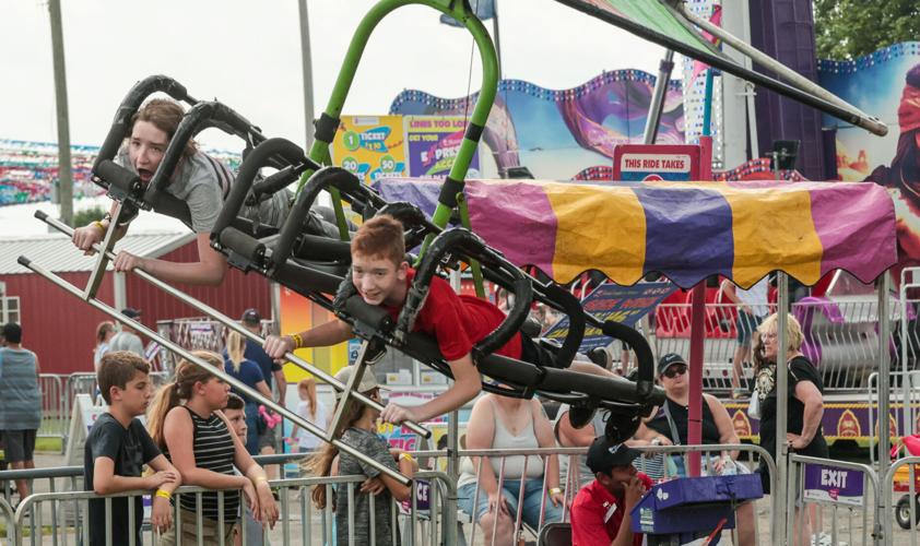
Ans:
{"type": "MultiPolygon", "coordinates": [[[[20,265],[22,265],[24,268],[27,268],[27,269],[32,270],[33,272],[42,275],[43,277],[47,278],[51,283],[60,286],[61,288],[63,288],[64,290],[71,293],[71,294],[73,294],[78,298],[81,298],[81,299],[83,298],[83,294],[81,293],[81,290],[78,287],[68,283],[67,281],[59,277],[58,275],[47,271],[45,268],[43,268],[43,266],[40,266],[36,263],[33,263],[28,258],[26,258],[24,256],[21,256],[19,258],[17,262],[19,262],[20,265]]],[[[99,311],[102,311],[102,312],[108,314],[109,317],[111,317],[113,319],[117,320],[118,322],[120,322],[122,324],[127,324],[127,325],[131,327],[132,329],[137,330],[139,333],[142,333],[143,335],[150,337],[151,340],[158,343],[162,347],[165,347],[166,349],[172,351],[173,353],[181,356],[182,358],[190,361],[191,364],[194,364],[196,366],[198,366],[200,368],[203,368],[203,369],[208,370],[209,372],[211,372],[212,375],[221,378],[222,380],[227,382],[231,387],[234,387],[235,389],[241,391],[244,394],[251,397],[252,400],[261,401],[262,404],[264,404],[266,406],[274,410],[279,414],[283,415],[284,417],[291,419],[296,425],[303,427],[304,430],[307,430],[308,432],[312,434],[314,436],[323,438],[325,430],[322,430],[321,428],[317,427],[312,423],[310,423],[310,422],[306,420],[305,418],[300,417],[299,415],[292,412],[291,410],[287,410],[286,407],[279,404],[278,402],[262,396],[262,394],[259,393],[256,389],[250,388],[249,385],[247,385],[243,381],[236,379],[235,377],[231,376],[226,371],[211,366],[210,364],[202,360],[201,358],[198,358],[197,356],[192,355],[190,351],[187,351],[187,349],[180,347],[179,345],[177,345],[176,343],[167,340],[166,337],[163,337],[157,332],[154,332],[153,330],[146,328],[142,323],[140,323],[135,320],[131,320],[128,317],[125,317],[118,310],[113,309],[111,307],[103,304],[102,301],[99,301],[95,298],[89,299],[89,300],[85,300],[85,301],[87,304],[90,304],[91,306],[93,306],[94,308],[98,309],[99,311]]],[[[352,448],[351,446],[342,442],[341,440],[328,439],[327,441],[329,441],[329,443],[339,448],[339,450],[341,450],[345,453],[349,453],[350,455],[355,456],[355,458],[359,459],[361,461],[364,461],[365,463],[367,463],[367,464],[374,466],[375,468],[379,470],[380,472],[387,474],[391,478],[399,480],[403,485],[410,485],[412,483],[412,480],[410,478],[403,476],[399,472],[393,471],[392,468],[390,468],[390,467],[388,467],[384,464],[380,464],[379,462],[375,461],[374,459],[368,458],[367,455],[365,455],[361,451],[352,448]]]]}

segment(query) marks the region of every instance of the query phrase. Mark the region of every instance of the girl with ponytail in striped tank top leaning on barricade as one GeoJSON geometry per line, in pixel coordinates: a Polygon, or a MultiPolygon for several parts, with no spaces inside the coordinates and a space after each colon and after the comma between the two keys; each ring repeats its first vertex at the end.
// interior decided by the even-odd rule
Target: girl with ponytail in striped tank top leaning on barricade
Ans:
{"type": "MultiPolygon", "coordinates": [[[[221,357],[213,353],[196,351],[192,354],[216,369],[223,365],[221,357]]],[[[229,385],[224,380],[205,368],[181,360],[176,367],[175,380],[157,392],[149,414],[151,437],[181,473],[182,483],[214,490],[200,496],[184,495],[178,500],[182,544],[199,544],[199,534],[208,545],[231,544],[240,508],[239,489],[256,521],[272,526],[278,520],[278,506],[264,471],[232,432],[221,412],[228,393],[229,385]],[[243,475],[236,475],[234,467],[243,475]],[[221,496],[223,514],[219,510],[221,496]],[[202,514],[200,532],[199,509],[202,514]]],[[[163,535],[161,544],[176,544],[176,533],[174,526],[163,535]]]]}

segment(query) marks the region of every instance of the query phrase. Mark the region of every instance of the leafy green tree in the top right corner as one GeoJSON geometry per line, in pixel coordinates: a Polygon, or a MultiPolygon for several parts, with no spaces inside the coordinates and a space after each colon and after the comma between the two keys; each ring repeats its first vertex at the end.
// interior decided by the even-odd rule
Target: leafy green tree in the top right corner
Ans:
{"type": "Polygon", "coordinates": [[[917,0],[814,0],[814,17],[819,59],[853,60],[920,40],[917,0]]]}

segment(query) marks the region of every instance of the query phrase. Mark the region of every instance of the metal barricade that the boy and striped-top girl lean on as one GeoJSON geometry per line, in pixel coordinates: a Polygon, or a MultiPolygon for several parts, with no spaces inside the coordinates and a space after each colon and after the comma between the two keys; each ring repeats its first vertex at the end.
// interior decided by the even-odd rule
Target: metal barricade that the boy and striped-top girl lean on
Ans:
{"type": "MultiPolygon", "coordinates": [[[[345,489],[345,495],[350,499],[350,506],[354,506],[354,497],[366,479],[366,476],[338,476],[338,477],[310,477],[297,479],[280,479],[271,482],[272,489],[278,494],[279,520],[273,530],[261,530],[263,537],[269,537],[272,544],[282,545],[323,545],[334,544],[333,542],[333,520],[331,502],[328,502],[325,510],[315,510],[310,507],[310,489],[320,486],[326,487],[327,491],[331,491],[333,487],[342,486],[345,489]]],[[[450,480],[444,473],[439,472],[420,472],[416,473],[413,485],[413,501],[408,506],[398,506],[392,502],[389,507],[389,514],[391,518],[390,524],[393,533],[399,532],[403,537],[403,544],[413,545],[440,545],[440,544],[456,544],[452,537],[447,534],[451,530],[450,525],[446,524],[445,520],[445,503],[441,499],[450,498],[456,495],[456,488],[450,484],[450,480]],[[426,507],[422,507],[417,488],[420,484],[427,484],[425,491],[426,507]]],[[[204,492],[214,492],[212,490],[200,487],[182,486],[176,490],[176,498],[180,499],[182,496],[192,495],[199,496],[204,492]]],[[[223,510],[223,499],[227,491],[219,494],[219,511],[223,510]]],[[[14,525],[9,525],[8,530],[12,530],[10,535],[11,544],[15,545],[37,545],[45,544],[49,539],[55,545],[67,546],[69,544],[86,544],[89,542],[90,527],[86,524],[89,520],[89,501],[91,499],[109,499],[106,501],[106,513],[111,514],[111,500],[118,498],[133,499],[138,496],[150,495],[144,491],[129,491],[119,495],[97,496],[92,491],[68,491],[68,492],[42,492],[35,494],[23,500],[16,508],[14,514],[14,525]],[[64,507],[73,508],[76,518],[63,520],[59,515],[64,513],[64,507]]],[[[331,498],[331,495],[329,496],[331,498]]],[[[370,529],[376,529],[374,520],[375,501],[381,502],[378,497],[369,496],[368,502],[370,506],[370,529]]],[[[176,506],[178,506],[178,500],[176,506]]],[[[0,511],[3,510],[3,503],[0,501],[0,511]]],[[[133,511],[129,511],[130,515],[133,511]]],[[[12,513],[12,512],[11,512],[12,513]]],[[[200,533],[203,525],[203,515],[199,510],[196,512],[186,512],[184,510],[174,510],[174,525],[180,529],[182,521],[189,523],[188,518],[194,519],[194,529],[199,532],[198,544],[201,544],[203,537],[200,533]]],[[[350,543],[354,542],[354,536],[351,534],[355,530],[354,514],[347,514],[347,520],[351,525],[349,529],[337,529],[338,533],[349,533],[350,543]]],[[[245,521],[245,520],[244,520],[245,521]]],[[[135,524],[129,521],[129,529],[135,524]]],[[[226,522],[232,523],[232,522],[226,522]]],[[[247,527],[251,522],[241,523],[241,539],[243,544],[247,544],[247,527]]],[[[110,529],[110,525],[106,525],[110,529]]],[[[453,527],[456,529],[456,527],[453,527]]],[[[157,544],[157,537],[154,530],[150,527],[146,522],[142,522],[142,543],[157,544]]],[[[367,546],[376,543],[374,532],[370,531],[370,541],[367,546]]],[[[118,539],[113,541],[113,544],[122,546],[118,539]]],[[[131,539],[129,544],[135,544],[131,539]]],[[[188,542],[184,543],[187,546],[188,542]]],[[[220,539],[220,544],[225,544],[220,539]]],[[[227,545],[228,546],[228,545],[227,545]]],[[[362,546],[365,546],[362,544],[362,546]]]]}

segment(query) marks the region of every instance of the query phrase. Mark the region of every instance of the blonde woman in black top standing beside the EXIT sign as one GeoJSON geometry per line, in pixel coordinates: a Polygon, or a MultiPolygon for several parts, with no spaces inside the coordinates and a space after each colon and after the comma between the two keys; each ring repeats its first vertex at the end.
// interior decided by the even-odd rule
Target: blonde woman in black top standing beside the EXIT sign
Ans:
{"type": "MultiPolygon", "coordinates": [[[[801,455],[827,459],[829,451],[827,441],[821,429],[821,418],[824,415],[824,382],[814,365],[802,354],[804,334],[795,317],[787,314],[786,347],[780,349],[778,340],[779,317],[774,313],[767,317],[757,329],[763,353],[758,365],[755,390],[752,396],[760,401],[760,447],[776,459],[777,444],[777,363],[783,361],[788,378],[787,425],[786,441],[789,452],[801,455]]],[[[755,360],[757,361],[757,360],[755,360]]],[[[760,479],[764,492],[770,492],[770,480],[767,465],[760,461],[760,479]]],[[[795,499],[800,508],[801,499],[795,499]]],[[[811,535],[807,518],[797,517],[793,522],[795,539],[793,544],[807,544],[811,535]],[[797,524],[798,522],[801,524],[797,524]]]]}

